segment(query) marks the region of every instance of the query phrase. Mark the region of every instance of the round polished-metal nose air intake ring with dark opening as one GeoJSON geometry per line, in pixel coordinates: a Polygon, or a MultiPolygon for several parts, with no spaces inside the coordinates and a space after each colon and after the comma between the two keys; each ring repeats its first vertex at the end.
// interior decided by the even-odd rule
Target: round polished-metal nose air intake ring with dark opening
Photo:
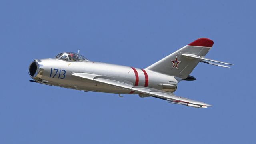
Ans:
{"type": "Polygon", "coordinates": [[[34,80],[41,80],[44,72],[44,66],[41,60],[34,60],[28,67],[28,74],[34,80]]]}

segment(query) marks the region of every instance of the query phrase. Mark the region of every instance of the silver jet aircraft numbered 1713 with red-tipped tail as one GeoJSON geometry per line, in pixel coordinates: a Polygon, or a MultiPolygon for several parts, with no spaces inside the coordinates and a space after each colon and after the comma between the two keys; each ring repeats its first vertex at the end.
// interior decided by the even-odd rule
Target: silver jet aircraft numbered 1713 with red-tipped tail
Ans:
{"type": "Polygon", "coordinates": [[[55,58],[34,60],[28,68],[30,77],[40,84],[76,90],[115,94],[138,94],[173,104],[194,108],[211,106],[204,102],[175,96],[180,81],[196,80],[189,74],[199,62],[230,68],[227,64],[204,56],[213,46],[208,38],[199,38],[158,62],[140,69],[116,64],[90,61],[74,52],[62,52],[55,58]],[[221,63],[221,64],[218,64],[221,63]]]}

